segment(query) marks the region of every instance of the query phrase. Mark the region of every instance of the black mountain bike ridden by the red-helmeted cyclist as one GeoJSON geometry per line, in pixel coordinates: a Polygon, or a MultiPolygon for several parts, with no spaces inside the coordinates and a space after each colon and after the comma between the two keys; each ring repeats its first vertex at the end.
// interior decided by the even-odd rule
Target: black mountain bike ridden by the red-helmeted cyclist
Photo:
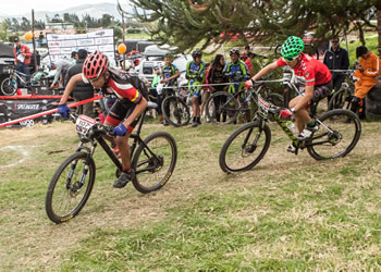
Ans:
{"type": "MultiPolygon", "coordinates": [[[[156,106],[149,102],[148,108],[156,106]]],[[[131,166],[136,173],[132,183],[143,194],[162,188],[172,176],[177,160],[176,143],[170,134],[156,132],[145,139],[140,138],[147,110],[142,114],[136,132],[130,136],[134,139],[131,146],[131,166]]],[[[57,224],[74,218],[86,205],[96,178],[93,156],[98,144],[116,166],[116,177],[122,171],[121,161],[102,137],[112,136],[112,128],[86,115],[70,113],[70,118],[75,122],[79,146],[57,169],[45,200],[48,218],[57,224]]]]}

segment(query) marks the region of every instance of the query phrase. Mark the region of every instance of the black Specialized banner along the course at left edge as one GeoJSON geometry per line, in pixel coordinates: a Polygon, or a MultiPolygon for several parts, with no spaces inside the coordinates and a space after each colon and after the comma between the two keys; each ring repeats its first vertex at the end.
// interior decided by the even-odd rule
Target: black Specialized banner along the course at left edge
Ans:
{"type": "MultiPolygon", "coordinates": [[[[57,108],[59,99],[38,99],[38,100],[1,100],[0,101],[0,123],[5,123],[20,118],[36,114],[42,111],[57,108]]],[[[44,123],[51,122],[52,116],[41,116],[36,120],[28,120],[20,123],[22,126],[34,125],[36,121],[42,121],[44,123]]]]}

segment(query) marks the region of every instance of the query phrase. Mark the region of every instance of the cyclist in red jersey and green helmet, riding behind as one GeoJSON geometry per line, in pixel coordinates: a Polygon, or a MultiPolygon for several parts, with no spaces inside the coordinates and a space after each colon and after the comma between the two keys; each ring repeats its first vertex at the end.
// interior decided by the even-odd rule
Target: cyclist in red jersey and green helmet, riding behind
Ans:
{"type": "MultiPolygon", "coordinates": [[[[295,36],[288,37],[282,45],[282,57],[265,66],[251,77],[255,82],[279,66],[288,65],[294,70],[298,79],[305,82],[305,92],[290,101],[288,107],[291,110],[282,111],[282,115],[284,116],[295,114],[296,126],[299,132],[298,138],[300,140],[308,138],[311,132],[319,129],[315,120],[308,114],[308,107],[312,102],[329,96],[332,90],[332,75],[330,70],[320,61],[303,53],[303,39],[295,36]]],[[[253,82],[247,82],[247,85],[253,85],[253,82]]],[[[295,147],[290,146],[287,151],[295,152],[295,147]]]]}

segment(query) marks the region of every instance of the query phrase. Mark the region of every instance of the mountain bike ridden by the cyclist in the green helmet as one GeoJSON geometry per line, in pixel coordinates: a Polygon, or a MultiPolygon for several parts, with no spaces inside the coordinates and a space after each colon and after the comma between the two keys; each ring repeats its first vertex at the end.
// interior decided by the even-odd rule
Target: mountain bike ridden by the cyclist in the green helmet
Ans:
{"type": "MultiPolygon", "coordinates": [[[[319,129],[310,137],[299,140],[280,118],[281,107],[266,101],[257,91],[258,111],[250,123],[233,132],[221,148],[219,163],[223,172],[235,173],[253,169],[266,154],[271,141],[267,122],[273,119],[292,140],[295,154],[302,149],[316,160],[331,160],[348,154],[361,135],[361,123],[348,110],[336,109],[315,116],[319,129]]],[[[291,121],[288,121],[291,122],[291,121]]]]}

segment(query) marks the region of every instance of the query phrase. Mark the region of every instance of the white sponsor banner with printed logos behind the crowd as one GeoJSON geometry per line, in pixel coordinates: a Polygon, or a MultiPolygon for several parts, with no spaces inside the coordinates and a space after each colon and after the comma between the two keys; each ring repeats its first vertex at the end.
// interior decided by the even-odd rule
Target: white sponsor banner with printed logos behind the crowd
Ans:
{"type": "Polygon", "coordinates": [[[88,52],[100,51],[107,54],[111,62],[115,59],[114,29],[75,35],[47,34],[48,49],[51,61],[70,59],[73,51],[86,49],[88,52]]]}

